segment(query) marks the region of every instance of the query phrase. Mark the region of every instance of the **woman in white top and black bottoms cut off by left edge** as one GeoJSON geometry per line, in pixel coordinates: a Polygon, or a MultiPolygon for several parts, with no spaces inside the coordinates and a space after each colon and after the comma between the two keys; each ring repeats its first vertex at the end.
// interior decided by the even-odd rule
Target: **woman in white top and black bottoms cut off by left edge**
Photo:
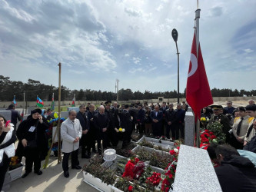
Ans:
{"type": "Polygon", "coordinates": [[[15,156],[16,141],[13,124],[6,124],[5,118],[0,115],[0,191],[4,184],[11,157],[15,156]]]}

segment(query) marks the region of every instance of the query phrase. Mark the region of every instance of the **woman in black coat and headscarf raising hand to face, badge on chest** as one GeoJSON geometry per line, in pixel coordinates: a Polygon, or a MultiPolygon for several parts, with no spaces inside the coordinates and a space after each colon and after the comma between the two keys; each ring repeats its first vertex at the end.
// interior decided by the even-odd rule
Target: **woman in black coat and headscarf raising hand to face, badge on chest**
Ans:
{"type": "Polygon", "coordinates": [[[33,163],[35,174],[42,174],[41,161],[45,159],[48,151],[45,130],[48,129],[49,124],[41,114],[41,109],[35,109],[32,111],[32,115],[18,126],[18,151],[23,151],[25,156],[25,174],[22,175],[22,178],[32,171],[33,163]]]}

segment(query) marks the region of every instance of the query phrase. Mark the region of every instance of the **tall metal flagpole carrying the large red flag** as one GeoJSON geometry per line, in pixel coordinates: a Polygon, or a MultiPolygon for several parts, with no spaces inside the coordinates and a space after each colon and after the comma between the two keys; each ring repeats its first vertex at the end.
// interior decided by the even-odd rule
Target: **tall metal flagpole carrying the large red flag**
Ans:
{"type": "MultiPolygon", "coordinates": [[[[200,11],[197,0],[197,10],[195,11],[195,29],[196,29],[196,43],[197,43],[197,58],[198,58],[198,48],[199,48],[199,18],[200,18],[200,11]]],[[[200,131],[200,121],[197,119],[197,146],[199,148],[199,131],[200,131]]]]}

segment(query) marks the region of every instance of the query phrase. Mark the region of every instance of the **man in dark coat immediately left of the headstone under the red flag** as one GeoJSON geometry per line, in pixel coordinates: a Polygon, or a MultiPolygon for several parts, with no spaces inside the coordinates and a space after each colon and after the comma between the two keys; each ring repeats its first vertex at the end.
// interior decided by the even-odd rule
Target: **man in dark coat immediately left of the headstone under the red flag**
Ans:
{"type": "Polygon", "coordinates": [[[185,113],[186,111],[181,108],[181,104],[177,104],[177,109],[176,109],[176,118],[177,122],[175,124],[175,139],[178,139],[180,136],[180,131],[181,131],[181,137],[184,138],[184,127],[185,127],[185,113]]]}

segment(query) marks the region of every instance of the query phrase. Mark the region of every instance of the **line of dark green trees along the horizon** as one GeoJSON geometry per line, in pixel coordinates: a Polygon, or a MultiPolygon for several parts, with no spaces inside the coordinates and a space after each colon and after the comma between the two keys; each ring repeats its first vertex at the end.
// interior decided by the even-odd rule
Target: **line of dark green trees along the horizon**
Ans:
{"type": "MultiPolygon", "coordinates": [[[[12,101],[13,95],[16,96],[16,101],[23,101],[23,93],[25,92],[25,101],[35,101],[36,95],[44,101],[52,101],[52,93],[55,94],[55,101],[58,100],[58,88],[52,85],[42,84],[40,81],[28,79],[27,83],[22,81],[12,81],[9,77],[0,75],[0,101],[12,101]]],[[[76,95],[76,101],[107,101],[115,100],[117,94],[111,91],[95,91],[91,89],[70,90],[65,86],[62,86],[62,101],[71,101],[76,95]]],[[[180,98],[185,98],[185,93],[180,93],[180,98]]],[[[174,91],[131,91],[131,89],[122,88],[118,91],[120,101],[128,101],[131,99],[143,100],[143,99],[157,99],[158,97],[165,98],[177,98],[178,93],[174,91]]],[[[256,94],[256,90],[245,91],[244,89],[238,91],[237,89],[231,90],[228,88],[218,89],[213,88],[211,90],[213,97],[241,97],[244,95],[251,96],[256,94]]]]}

